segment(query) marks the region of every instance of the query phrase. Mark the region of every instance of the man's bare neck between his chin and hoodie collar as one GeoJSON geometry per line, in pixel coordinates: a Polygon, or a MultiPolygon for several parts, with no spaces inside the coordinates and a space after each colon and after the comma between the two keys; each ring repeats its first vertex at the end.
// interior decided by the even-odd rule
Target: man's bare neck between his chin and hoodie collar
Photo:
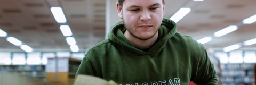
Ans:
{"type": "Polygon", "coordinates": [[[151,47],[155,41],[157,40],[158,38],[158,31],[156,32],[156,34],[148,39],[148,40],[140,40],[134,36],[131,35],[131,33],[129,31],[125,31],[124,32],[124,36],[132,43],[133,46],[135,46],[136,48],[139,48],[139,49],[146,49],[146,48],[149,48],[151,47]]]}

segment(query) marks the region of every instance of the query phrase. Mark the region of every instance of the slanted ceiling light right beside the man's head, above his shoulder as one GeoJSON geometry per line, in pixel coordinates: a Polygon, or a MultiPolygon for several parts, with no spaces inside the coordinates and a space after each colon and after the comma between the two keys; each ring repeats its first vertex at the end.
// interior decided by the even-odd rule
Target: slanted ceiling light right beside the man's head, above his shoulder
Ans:
{"type": "Polygon", "coordinates": [[[178,12],[176,12],[170,20],[173,20],[174,22],[180,21],[184,16],[186,16],[191,11],[190,8],[180,8],[178,12]]]}

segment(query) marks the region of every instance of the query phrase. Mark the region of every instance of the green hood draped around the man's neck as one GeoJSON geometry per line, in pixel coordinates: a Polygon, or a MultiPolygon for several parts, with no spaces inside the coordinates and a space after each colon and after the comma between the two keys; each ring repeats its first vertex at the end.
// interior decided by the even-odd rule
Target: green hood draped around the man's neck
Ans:
{"type": "Polygon", "coordinates": [[[163,18],[161,27],[158,30],[158,41],[151,46],[148,52],[143,52],[140,49],[134,47],[130,41],[124,36],[124,32],[126,28],[124,27],[123,21],[117,22],[110,28],[108,33],[109,41],[116,43],[119,48],[121,48],[122,52],[131,55],[156,55],[161,51],[161,49],[165,46],[167,41],[175,35],[177,32],[177,24],[170,20],[163,18]]]}

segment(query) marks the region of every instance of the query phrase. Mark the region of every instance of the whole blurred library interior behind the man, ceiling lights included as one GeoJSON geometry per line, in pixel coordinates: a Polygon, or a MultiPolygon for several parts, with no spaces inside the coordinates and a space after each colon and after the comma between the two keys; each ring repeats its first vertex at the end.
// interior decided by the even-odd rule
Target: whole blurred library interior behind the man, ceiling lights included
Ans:
{"type": "MultiPolygon", "coordinates": [[[[120,21],[117,0],[0,0],[0,84],[72,84],[85,53],[120,21]]],[[[202,43],[223,85],[251,85],[255,0],[166,0],[164,18],[202,43]]]]}

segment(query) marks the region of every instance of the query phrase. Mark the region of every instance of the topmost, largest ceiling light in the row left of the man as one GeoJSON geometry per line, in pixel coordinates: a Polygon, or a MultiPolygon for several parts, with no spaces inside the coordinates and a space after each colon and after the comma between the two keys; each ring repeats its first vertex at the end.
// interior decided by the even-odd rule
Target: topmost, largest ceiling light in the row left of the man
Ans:
{"type": "Polygon", "coordinates": [[[58,23],[66,23],[67,20],[61,7],[51,7],[52,14],[58,23]]]}

